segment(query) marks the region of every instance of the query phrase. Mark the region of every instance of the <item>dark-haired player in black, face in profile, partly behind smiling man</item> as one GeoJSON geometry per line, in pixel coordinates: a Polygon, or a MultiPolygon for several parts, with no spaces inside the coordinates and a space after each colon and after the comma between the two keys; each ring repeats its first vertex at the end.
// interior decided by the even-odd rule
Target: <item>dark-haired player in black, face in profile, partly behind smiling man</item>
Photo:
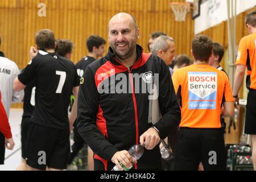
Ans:
{"type": "MultiPolygon", "coordinates": [[[[88,55],[82,57],[82,59],[76,64],[77,74],[82,77],[84,75],[84,71],[87,66],[92,63],[93,61],[99,59],[104,55],[105,52],[105,44],[106,41],[97,35],[91,35],[86,41],[86,46],[88,49],[88,55]]],[[[72,152],[68,156],[68,165],[72,163],[72,160],[75,158],[77,153],[81,150],[84,146],[84,140],[81,138],[80,134],[77,132],[77,122],[73,125],[73,134],[74,134],[74,143],[72,145],[72,152]]],[[[93,159],[90,159],[90,153],[92,151],[88,149],[88,168],[93,169],[90,167],[93,165],[93,159]],[[90,162],[91,161],[91,162],[90,162]]],[[[69,169],[74,169],[72,166],[69,166],[69,169]]]]}

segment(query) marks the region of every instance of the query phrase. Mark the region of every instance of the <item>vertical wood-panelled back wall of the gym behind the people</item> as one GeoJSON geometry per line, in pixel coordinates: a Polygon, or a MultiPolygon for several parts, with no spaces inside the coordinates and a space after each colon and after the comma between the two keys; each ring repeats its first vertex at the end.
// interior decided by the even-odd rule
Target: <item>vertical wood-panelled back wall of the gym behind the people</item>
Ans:
{"type": "MultiPolygon", "coordinates": [[[[22,69],[28,63],[30,46],[35,46],[35,33],[42,28],[49,28],[55,32],[56,38],[70,39],[75,43],[72,60],[76,63],[88,53],[85,47],[86,38],[96,34],[107,40],[109,19],[116,13],[127,12],[137,20],[141,33],[138,43],[145,52],[148,52],[150,33],[163,31],[175,39],[177,54],[190,55],[190,44],[194,35],[191,14],[187,14],[185,22],[175,22],[170,9],[172,1],[1,0],[1,51],[22,69]],[[38,16],[40,2],[46,4],[46,17],[38,16]]],[[[106,46],[108,45],[107,43],[106,46]]]]}

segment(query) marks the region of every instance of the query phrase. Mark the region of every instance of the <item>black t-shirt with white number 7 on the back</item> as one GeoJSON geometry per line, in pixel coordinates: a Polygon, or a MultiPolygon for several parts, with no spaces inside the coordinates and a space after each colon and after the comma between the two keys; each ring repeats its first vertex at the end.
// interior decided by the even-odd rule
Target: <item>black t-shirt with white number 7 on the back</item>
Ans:
{"type": "Polygon", "coordinates": [[[80,83],[75,65],[56,53],[40,50],[18,78],[24,85],[36,79],[32,122],[68,130],[69,98],[73,87],[80,83]]]}

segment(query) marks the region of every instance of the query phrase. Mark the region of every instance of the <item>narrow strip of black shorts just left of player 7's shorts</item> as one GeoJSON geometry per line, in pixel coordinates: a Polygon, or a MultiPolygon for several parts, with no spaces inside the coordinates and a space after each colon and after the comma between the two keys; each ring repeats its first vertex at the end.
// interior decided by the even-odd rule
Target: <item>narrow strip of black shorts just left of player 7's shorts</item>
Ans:
{"type": "Polygon", "coordinates": [[[28,125],[31,122],[31,117],[23,117],[21,123],[21,144],[22,144],[22,158],[26,159],[26,146],[27,146],[27,134],[28,125]]]}

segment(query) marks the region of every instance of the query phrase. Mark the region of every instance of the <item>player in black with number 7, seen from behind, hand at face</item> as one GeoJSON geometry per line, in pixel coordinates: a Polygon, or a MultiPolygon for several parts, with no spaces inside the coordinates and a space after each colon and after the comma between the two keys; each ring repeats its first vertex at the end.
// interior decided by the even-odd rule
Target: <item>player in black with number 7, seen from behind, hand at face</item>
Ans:
{"type": "Polygon", "coordinates": [[[28,170],[61,170],[67,166],[69,152],[69,97],[77,95],[79,76],[75,65],[55,53],[51,30],[36,34],[31,61],[15,79],[14,89],[21,90],[36,79],[35,109],[28,127],[26,157],[28,170]]]}

